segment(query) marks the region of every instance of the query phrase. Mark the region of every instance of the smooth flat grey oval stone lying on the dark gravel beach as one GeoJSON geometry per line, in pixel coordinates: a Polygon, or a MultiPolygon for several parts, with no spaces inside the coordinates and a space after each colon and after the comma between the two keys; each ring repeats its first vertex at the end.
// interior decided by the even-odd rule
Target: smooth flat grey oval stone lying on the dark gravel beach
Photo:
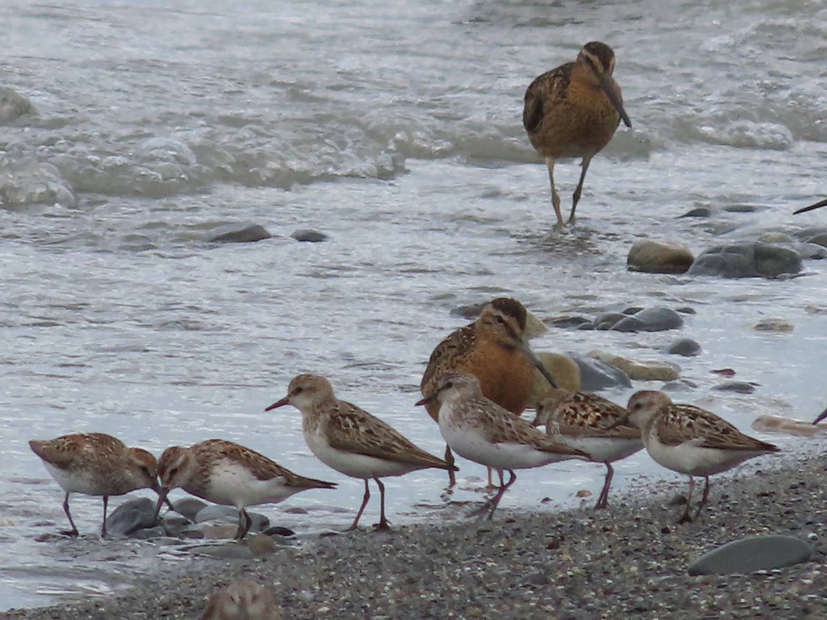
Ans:
{"type": "Polygon", "coordinates": [[[810,560],[812,548],[801,538],[771,535],[728,542],[705,553],[686,569],[690,575],[749,574],[810,560]]]}

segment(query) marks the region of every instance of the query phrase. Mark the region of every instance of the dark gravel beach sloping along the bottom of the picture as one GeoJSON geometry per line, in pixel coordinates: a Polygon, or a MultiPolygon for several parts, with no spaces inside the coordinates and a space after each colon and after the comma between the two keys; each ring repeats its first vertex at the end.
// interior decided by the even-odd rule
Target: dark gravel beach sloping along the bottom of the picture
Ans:
{"type": "Polygon", "coordinates": [[[648,480],[598,512],[506,508],[490,522],[322,537],[0,617],[198,618],[214,588],[248,577],[271,589],[283,618],[827,618],[827,456],[758,465],[714,477],[710,504],[686,525],[675,505],[685,479],[648,480]],[[764,534],[809,541],[812,559],[753,575],[687,574],[706,551],[764,534]]]}

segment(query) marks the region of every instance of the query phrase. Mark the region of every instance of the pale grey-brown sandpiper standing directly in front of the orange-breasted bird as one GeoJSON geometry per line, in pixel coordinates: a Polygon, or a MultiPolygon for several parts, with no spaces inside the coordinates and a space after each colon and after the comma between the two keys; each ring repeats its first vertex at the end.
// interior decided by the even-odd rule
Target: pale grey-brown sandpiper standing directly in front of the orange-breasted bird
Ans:
{"type": "Polygon", "coordinates": [[[481,465],[488,465],[500,476],[500,489],[489,503],[480,508],[494,516],[500,498],[514,484],[514,470],[524,470],[558,460],[584,459],[588,455],[538,431],[523,418],[485,398],[480,381],[467,372],[447,370],[437,381],[430,396],[416,404],[440,403],[439,432],[458,455],[481,465]],[[504,482],[503,472],[509,472],[504,482]]]}

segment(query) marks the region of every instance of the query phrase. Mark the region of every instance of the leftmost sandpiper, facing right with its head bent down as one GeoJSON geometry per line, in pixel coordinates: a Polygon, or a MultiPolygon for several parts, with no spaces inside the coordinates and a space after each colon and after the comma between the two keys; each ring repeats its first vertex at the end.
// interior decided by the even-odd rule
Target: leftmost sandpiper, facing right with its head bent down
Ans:
{"type": "Polygon", "coordinates": [[[61,534],[78,536],[78,528],[69,513],[69,494],[103,496],[101,536],[105,537],[110,495],[123,495],[137,489],[160,493],[155,456],[141,448],[127,448],[111,435],[88,432],[46,441],[33,439],[29,441],[29,447],[41,457],[46,470],[66,494],[63,511],[72,529],[61,534]]]}

